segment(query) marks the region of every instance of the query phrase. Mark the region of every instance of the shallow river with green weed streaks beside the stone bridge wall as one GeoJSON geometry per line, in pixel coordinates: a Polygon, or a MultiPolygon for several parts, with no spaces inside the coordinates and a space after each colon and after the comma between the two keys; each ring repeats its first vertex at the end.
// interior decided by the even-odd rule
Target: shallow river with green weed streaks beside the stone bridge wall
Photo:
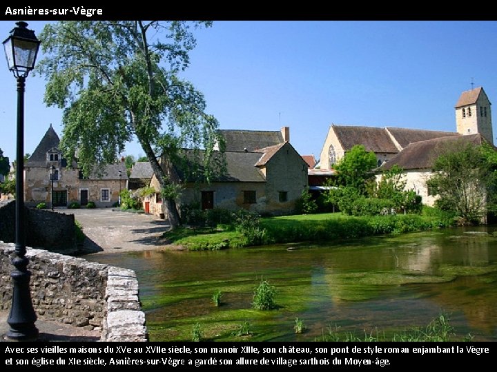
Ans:
{"type": "Polygon", "coordinates": [[[330,328],[388,333],[425,326],[442,311],[457,335],[497,340],[497,238],[486,230],[85,258],[136,271],[150,340],[190,340],[195,323],[208,340],[316,340],[330,328]],[[277,290],[275,310],[251,309],[262,279],[277,290]],[[304,333],[293,331],[295,318],[304,333]],[[236,335],[244,322],[251,335],[236,335]]]}

